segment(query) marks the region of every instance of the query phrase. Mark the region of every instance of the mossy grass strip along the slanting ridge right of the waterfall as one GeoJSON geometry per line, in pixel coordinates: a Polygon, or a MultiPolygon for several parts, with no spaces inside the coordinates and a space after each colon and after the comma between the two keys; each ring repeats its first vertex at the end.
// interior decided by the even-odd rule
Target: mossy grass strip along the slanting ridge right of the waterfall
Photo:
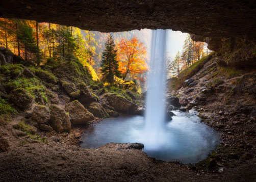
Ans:
{"type": "Polygon", "coordinates": [[[170,87],[173,90],[177,90],[182,87],[182,83],[189,79],[191,76],[196,74],[204,64],[206,64],[209,60],[212,59],[214,53],[209,54],[208,56],[200,59],[199,61],[192,64],[190,67],[182,70],[178,77],[172,77],[170,79],[170,87]]]}

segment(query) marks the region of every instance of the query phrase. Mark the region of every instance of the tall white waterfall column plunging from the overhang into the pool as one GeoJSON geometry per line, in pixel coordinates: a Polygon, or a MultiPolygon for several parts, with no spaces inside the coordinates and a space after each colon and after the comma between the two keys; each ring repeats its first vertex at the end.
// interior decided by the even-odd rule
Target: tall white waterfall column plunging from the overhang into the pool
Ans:
{"type": "Polygon", "coordinates": [[[166,39],[168,30],[152,30],[149,74],[147,76],[144,144],[158,149],[165,143],[166,39]]]}

